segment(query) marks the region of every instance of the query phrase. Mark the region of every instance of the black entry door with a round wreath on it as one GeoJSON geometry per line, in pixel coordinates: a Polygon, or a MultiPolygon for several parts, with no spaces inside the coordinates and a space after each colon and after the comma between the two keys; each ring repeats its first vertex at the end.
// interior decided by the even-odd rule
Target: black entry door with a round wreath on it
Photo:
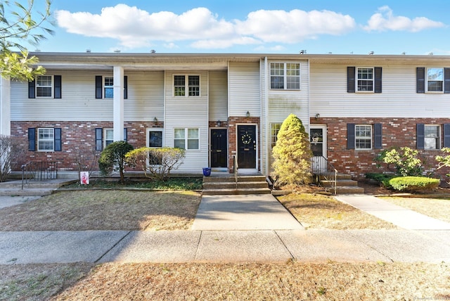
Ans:
{"type": "Polygon", "coordinates": [[[238,167],[256,168],[255,125],[238,125],[238,167]]]}

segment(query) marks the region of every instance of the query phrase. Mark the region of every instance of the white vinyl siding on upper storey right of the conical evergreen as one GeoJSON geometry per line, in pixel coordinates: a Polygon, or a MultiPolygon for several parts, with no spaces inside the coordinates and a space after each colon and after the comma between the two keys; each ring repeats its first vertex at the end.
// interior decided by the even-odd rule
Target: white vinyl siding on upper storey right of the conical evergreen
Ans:
{"type": "Polygon", "coordinates": [[[347,93],[347,65],[311,63],[311,117],[319,113],[321,117],[426,118],[449,112],[450,94],[416,93],[417,63],[377,64],[383,68],[382,94],[347,93]]]}

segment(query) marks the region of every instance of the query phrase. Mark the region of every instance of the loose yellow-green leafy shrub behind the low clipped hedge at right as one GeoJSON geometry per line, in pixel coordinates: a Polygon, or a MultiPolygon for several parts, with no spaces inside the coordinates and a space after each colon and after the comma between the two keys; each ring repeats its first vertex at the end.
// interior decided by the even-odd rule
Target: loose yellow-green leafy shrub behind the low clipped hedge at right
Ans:
{"type": "Polygon", "coordinates": [[[401,177],[420,176],[423,173],[422,162],[417,158],[418,151],[409,147],[392,148],[390,151],[383,151],[375,158],[377,162],[384,162],[395,166],[395,172],[401,177]]]}

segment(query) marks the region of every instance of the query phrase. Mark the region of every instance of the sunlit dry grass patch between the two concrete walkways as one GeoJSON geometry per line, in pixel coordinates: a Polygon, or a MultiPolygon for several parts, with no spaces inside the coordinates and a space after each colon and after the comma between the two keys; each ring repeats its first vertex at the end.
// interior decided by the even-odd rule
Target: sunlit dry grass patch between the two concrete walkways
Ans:
{"type": "Polygon", "coordinates": [[[335,200],[332,196],[291,193],[278,200],[307,229],[396,229],[371,214],[335,200]]]}

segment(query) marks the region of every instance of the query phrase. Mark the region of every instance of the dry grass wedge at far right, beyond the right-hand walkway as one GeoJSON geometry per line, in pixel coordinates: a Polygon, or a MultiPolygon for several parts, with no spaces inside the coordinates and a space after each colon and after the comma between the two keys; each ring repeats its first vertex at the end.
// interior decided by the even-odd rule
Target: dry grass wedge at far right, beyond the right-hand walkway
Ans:
{"type": "Polygon", "coordinates": [[[446,199],[392,196],[383,200],[450,223],[450,196],[446,199]]]}

